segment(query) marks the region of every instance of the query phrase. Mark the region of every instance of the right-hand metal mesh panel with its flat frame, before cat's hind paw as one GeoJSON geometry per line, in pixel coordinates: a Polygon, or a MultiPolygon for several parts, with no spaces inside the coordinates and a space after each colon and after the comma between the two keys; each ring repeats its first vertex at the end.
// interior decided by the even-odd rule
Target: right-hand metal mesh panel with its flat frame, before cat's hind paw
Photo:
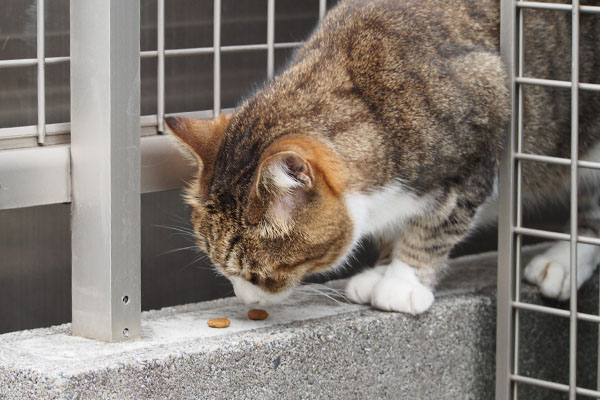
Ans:
{"type": "MultiPolygon", "coordinates": [[[[599,14],[600,7],[554,4],[531,1],[502,0],[501,48],[511,74],[512,117],[507,135],[505,157],[500,171],[499,193],[499,247],[498,247],[498,325],[496,398],[516,399],[519,385],[534,385],[555,391],[568,392],[569,399],[577,395],[600,397],[600,391],[577,386],[577,323],[600,323],[597,315],[578,312],[577,309],[577,244],[600,245],[600,239],[578,235],[578,170],[600,169],[600,163],[579,160],[579,91],[600,91],[599,84],[579,80],[579,20],[582,13],[599,14]],[[524,76],[524,10],[551,10],[571,15],[571,79],[559,81],[524,76]],[[571,90],[571,157],[557,158],[526,154],[523,150],[523,90],[525,85],[537,85],[571,90]],[[542,162],[570,167],[570,234],[530,229],[523,226],[522,168],[523,162],[542,162]],[[546,305],[530,304],[521,298],[521,249],[525,236],[570,242],[570,306],[563,310],[546,305]],[[569,382],[568,384],[525,376],[519,369],[520,312],[523,310],[568,318],[569,329],[569,382]]],[[[568,40],[568,38],[565,38],[568,40]]],[[[568,55],[556,55],[557,57],[568,55]]],[[[550,62],[550,60],[548,60],[550,62]]],[[[550,112],[550,110],[548,110],[550,112]]]]}

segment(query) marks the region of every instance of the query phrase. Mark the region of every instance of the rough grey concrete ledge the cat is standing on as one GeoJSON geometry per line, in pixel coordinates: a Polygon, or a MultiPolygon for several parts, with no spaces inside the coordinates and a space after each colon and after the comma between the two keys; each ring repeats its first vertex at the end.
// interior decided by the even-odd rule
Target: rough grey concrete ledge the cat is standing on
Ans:
{"type": "Polygon", "coordinates": [[[129,343],[72,337],[70,325],[0,335],[0,398],[490,399],[495,279],[495,254],[457,259],[417,317],[310,286],[265,321],[233,298],[147,312],[129,343]],[[206,326],[219,316],[231,327],[206,326]]]}

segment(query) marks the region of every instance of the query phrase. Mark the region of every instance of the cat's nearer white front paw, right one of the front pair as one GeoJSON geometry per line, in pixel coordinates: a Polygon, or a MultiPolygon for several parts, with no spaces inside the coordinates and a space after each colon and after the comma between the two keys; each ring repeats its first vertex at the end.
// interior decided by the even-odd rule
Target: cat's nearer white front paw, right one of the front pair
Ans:
{"type": "Polygon", "coordinates": [[[373,287],[371,305],[384,311],[421,314],[433,304],[433,293],[423,285],[414,269],[394,261],[373,287]]]}

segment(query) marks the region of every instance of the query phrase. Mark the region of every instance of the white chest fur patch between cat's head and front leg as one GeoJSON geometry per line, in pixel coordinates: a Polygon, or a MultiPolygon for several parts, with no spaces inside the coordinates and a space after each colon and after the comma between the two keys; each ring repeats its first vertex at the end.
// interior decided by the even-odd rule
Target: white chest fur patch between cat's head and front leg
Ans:
{"type": "Polygon", "coordinates": [[[364,236],[394,230],[408,218],[424,213],[431,197],[419,197],[402,184],[388,185],[368,193],[350,192],[346,206],[355,235],[364,236]]]}

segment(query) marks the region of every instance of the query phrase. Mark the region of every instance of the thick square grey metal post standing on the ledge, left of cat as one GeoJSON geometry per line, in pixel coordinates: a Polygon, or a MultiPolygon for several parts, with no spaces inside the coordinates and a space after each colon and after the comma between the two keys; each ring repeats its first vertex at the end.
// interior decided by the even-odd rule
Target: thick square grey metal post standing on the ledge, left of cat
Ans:
{"type": "Polygon", "coordinates": [[[140,335],[140,2],[71,2],[73,334],[140,335]]]}

